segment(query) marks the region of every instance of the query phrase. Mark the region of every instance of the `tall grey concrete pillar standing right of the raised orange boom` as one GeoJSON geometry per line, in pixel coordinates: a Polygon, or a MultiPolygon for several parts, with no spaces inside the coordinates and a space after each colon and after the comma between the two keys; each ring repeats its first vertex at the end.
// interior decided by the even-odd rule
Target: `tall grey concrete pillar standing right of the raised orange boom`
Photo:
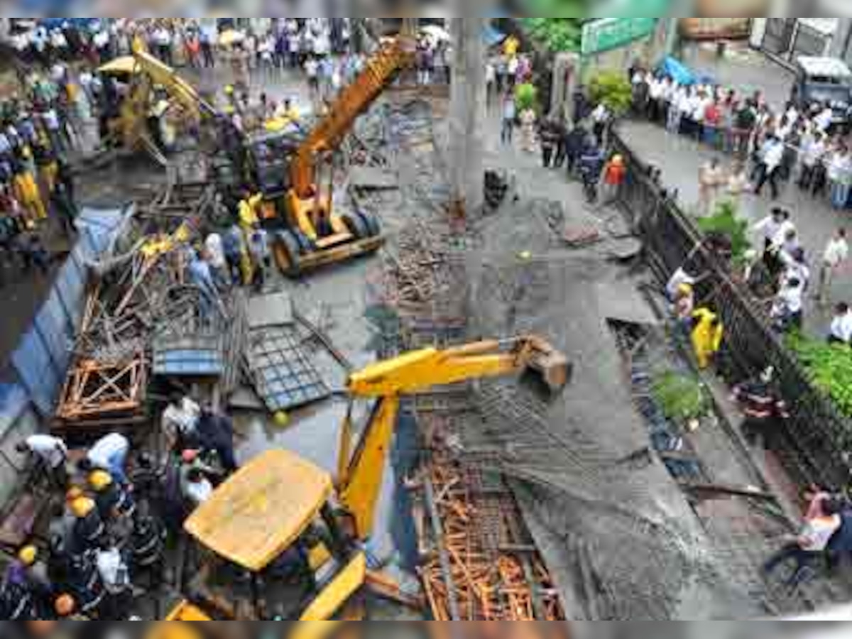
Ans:
{"type": "Polygon", "coordinates": [[[459,216],[485,204],[485,43],[482,18],[451,18],[450,184],[459,216]]]}

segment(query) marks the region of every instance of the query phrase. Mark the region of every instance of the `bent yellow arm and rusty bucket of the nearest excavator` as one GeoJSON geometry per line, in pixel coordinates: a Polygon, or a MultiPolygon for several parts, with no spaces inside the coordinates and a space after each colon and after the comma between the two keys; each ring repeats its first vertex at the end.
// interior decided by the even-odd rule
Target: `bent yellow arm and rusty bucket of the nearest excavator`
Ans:
{"type": "Polygon", "coordinates": [[[533,371],[556,392],[568,383],[571,367],[565,355],[541,337],[521,337],[508,343],[489,341],[444,351],[426,348],[378,362],[349,377],[351,397],[378,400],[354,453],[351,416],[344,420],[341,433],[337,490],[341,504],[354,517],[358,538],[367,538],[372,531],[401,397],[523,371],[533,371]]]}

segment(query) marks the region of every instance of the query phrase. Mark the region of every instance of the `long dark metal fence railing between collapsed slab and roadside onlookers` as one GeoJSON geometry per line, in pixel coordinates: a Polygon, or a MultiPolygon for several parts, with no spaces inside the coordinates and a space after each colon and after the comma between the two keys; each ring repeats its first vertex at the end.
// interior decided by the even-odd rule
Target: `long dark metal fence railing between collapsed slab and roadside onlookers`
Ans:
{"type": "Polygon", "coordinates": [[[634,154],[617,130],[614,150],[627,159],[630,170],[623,199],[642,234],[649,262],[661,279],[668,279],[689,258],[694,273],[707,273],[697,296],[708,300],[726,327],[720,364],[729,382],[756,377],[773,366],[775,378],[791,406],[783,439],[790,455],[783,456],[797,480],[842,488],[849,484],[847,452],[852,445],[852,423],[824,394],[815,389],[794,354],[770,328],[769,317],[746,286],[736,281],[704,247],[698,227],[665,190],[648,176],[648,166],[634,154]]]}

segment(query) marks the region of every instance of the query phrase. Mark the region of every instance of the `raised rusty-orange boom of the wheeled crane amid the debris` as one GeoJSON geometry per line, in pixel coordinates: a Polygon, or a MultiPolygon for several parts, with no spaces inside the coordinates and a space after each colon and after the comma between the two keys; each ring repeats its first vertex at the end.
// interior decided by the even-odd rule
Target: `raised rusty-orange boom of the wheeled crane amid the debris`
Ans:
{"type": "Polygon", "coordinates": [[[382,95],[396,73],[411,63],[411,43],[407,37],[397,37],[392,43],[383,44],[299,147],[291,164],[291,184],[300,199],[314,197],[318,156],[337,148],[361,113],[382,95]]]}

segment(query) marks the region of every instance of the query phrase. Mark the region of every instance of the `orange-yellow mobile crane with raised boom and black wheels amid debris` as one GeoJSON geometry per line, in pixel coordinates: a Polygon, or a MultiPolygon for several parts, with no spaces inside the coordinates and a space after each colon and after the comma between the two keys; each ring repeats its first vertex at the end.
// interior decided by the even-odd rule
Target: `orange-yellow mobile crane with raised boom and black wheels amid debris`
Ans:
{"type": "Polygon", "coordinates": [[[331,158],[355,120],[412,63],[415,46],[406,36],[383,43],[307,132],[294,123],[246,141],[245,171],[264,196],[261,217],[273,226],[277,222],[273,254],[283,273],[295,277],[383,245],[370,213],[332,210],[331,158]]]}

